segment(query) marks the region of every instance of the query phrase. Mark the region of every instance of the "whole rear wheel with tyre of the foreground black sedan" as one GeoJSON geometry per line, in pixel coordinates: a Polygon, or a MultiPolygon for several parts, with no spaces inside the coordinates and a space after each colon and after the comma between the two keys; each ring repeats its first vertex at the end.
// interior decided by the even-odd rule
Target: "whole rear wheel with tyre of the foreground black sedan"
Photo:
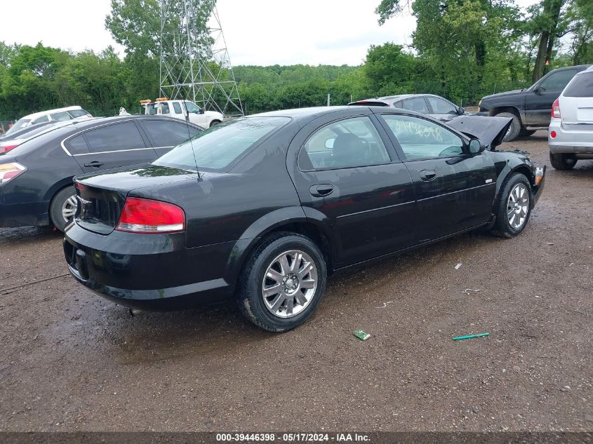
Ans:
{"type": "Polygon", "coordinates": [[[247,260],[237,289],[239,307],[260,328],[291,330],[317,308],[326,276],[324,256],[311,239],[288,232],[274,234],[247,260]]]}

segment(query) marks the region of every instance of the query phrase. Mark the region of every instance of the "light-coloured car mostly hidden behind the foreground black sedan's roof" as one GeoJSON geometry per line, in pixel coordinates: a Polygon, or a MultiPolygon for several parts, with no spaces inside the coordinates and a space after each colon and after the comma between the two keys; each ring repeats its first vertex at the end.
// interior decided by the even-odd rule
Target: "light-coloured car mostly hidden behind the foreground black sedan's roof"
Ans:
{"type": "Polygon", "coordinates": [[[465,109],[449,102],[445,98],[434,94],[400,94],[374,99],[358,100],[348,105],[363,105],[366,107],[394,107],[420,112],[439,119],[443,122],[451,121],[457,116],[469,115],[465,109]]]}

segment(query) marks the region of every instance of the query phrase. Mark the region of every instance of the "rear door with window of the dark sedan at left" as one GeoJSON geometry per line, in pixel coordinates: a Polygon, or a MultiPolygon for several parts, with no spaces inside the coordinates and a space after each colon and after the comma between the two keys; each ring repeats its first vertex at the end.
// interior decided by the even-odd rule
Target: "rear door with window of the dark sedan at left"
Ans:
{"type": "Polygon", "coordinates": [[[107,168],[152,162],[156,152],[147,146],[134,121],[100,126],[69,138],[65,144],[76,144],[84,154],[74,155],[85,173],[107,168]]]}

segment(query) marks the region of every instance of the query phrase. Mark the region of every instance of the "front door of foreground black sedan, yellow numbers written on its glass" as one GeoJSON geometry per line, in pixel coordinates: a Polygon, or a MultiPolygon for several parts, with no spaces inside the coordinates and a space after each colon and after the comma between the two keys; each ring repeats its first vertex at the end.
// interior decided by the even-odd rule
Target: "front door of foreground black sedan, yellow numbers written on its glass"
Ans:
{"type": "Polygon", "coordinates": [[[463,154],[462,138],[429,119],[402,114],[382,119],[413,180],[416,243],[490,220],[496,188],[490,156],[463,154]]]}

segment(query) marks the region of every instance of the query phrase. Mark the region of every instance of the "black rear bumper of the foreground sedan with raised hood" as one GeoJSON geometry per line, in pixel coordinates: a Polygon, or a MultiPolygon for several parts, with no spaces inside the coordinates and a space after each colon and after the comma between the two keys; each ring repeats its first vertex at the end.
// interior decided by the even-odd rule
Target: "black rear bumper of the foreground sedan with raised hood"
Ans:
{"type": "Polygon", "coordinates": [[[76,281],[117,304],[166,311],[232,296],[223,277],[232,242],[185,248],[185,234],[105,236],[72,224],[63,245],[76,281]]]}

